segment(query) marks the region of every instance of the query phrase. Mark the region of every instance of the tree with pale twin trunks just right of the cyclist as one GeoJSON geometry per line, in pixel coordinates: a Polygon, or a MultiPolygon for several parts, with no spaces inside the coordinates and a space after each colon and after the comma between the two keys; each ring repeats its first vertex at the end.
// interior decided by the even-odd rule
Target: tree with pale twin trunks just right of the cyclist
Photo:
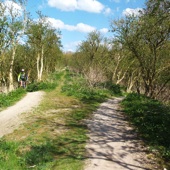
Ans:
{"type": "Polygon", "coordinates": [[[44,68],[48,71],[51,61],[55,60],[54,57],[56,57],[56,55],[52,56],[51,52],[55,50],[57,54],[61,54],[61,41],[60,32],[58,31],[56,33],[56,30],[50,27],[50,24],[47,22],[47,17],[43,16],[40,12],[38,12],[38,15],[38,22],[32,21],[28,28],[27,35],[28,46],[34,50],[36,56],[37,80],[41,81],[44,68]],[[51,60],[52,58],[54,60],[51,60]]]}

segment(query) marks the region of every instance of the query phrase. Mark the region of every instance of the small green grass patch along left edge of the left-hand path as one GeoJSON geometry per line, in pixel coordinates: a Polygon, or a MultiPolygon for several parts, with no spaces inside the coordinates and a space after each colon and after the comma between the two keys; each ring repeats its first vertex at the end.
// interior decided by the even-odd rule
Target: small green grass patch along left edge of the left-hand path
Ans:
{"type": "Polygon", "coordinates": [[[21,99],[26,91],[22,88],[9,92],[7,94],[0,94],[0,108],[13,105],[16,101],[21,99]]]}

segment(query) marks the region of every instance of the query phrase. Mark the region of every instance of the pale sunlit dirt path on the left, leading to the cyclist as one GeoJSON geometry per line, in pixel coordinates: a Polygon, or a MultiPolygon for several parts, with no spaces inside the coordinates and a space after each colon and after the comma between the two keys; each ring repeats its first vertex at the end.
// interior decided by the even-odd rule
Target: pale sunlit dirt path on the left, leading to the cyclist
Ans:
{"type": "Polygon", "coordinates": [[[14,106],[0,112],[0,137],[13,132],[21,123],[21,113],[28,112],[38,106],[43,92],[31,92],[14,106]]]}

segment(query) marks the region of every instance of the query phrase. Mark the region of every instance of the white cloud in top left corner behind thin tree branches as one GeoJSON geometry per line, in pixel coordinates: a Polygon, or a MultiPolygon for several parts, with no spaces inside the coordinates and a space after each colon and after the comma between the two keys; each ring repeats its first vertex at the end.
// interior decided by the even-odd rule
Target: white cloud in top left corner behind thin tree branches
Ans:
{"type": "Polygon", "coordinates": [[[13,1],[5,0],[2,5],[4,6],[4,8],[6,8],[5,15],[10,15],[10,13],[12,12],[12,15],[19,17],[23,14],[22,7],[13,1]]]}

